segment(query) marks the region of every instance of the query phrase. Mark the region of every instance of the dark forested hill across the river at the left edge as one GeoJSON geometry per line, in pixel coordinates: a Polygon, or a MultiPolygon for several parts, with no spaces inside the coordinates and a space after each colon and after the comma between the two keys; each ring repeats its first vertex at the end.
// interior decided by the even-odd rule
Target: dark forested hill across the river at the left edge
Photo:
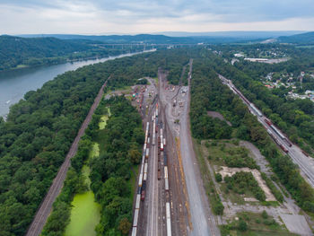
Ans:
{"type": "Polygon", "coordinates": [[[90,46],[56,38],[20,38],[0,36],[0,71],[17,66],[36,66],[56,61],[74,52],[90,49],[90,46]],[[54,58],[55,57],[55,58],[54,58]],[[46,58],[46,63],[44,62],[46,58]]]}

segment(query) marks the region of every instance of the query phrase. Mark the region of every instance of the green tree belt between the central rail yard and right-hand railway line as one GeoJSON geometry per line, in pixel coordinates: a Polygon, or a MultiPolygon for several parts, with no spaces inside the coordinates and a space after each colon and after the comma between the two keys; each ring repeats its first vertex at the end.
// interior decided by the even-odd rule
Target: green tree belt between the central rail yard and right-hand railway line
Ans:
{"type": "MultiPolygon", "coordinates": [[[[225,135],[221,135],[222,131],[219,128],[207,128],[211,127],[215,121],[222,127],[222,130],[227,128],[227,124],[221,123],[217,119],[205,118],[208,109],[221,112],[225,118],[231,121],[232,129],[236,129],[233,132],[236,133],[237,137],[257,144],[261,153],[266,156],[280,181],[292,194],[298,205],[304,210],[314,212],[313,189],[301,177],[297,166],[290,157],[278,151],[278,147],[266,134],[266,130],[260,125],[257,118],[249,113],[249,109],[227,86],[222,85],[211,69],[214,68],[220,73],[223,72],[224,66],[220,65],[222,67],[219,67],[216,65],[216,61],[219,60],[220,58],[215,57],[210,52],[205,58],[195,60],[190,111],[192,135],[202,139],[230,138],[231,130],[229,135],[227,132],[225,135]],[[200,120],[203,122],[202,126],[197,124],[200,120]],[[208,132],[211,132],[211,134],[208,134],[208,132]]],[[[235,81],[238,80],[235,79],[235,81]]]]}

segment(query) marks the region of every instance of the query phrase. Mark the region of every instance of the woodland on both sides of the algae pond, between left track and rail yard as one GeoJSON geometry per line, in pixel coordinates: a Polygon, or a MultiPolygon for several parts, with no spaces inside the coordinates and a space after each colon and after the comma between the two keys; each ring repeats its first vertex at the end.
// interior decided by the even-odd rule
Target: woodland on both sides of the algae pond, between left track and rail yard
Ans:
{"type": "Polygon", "coordinates": [[[70,220],[74,194],[88,190],[84,184],[83,163],[92,149],[92,142],[100,144],[100,156],[89,160],[90,179],[95,200],[101,206],[101,220],[96,227],[98,235],[126,235],[132,222],[133,195],[131,169],[138,164],[144,143],[142,119],[124,97],[101,101],[90,126],[72,159],[65,186],[54,203],[42,235],[63,235],[70,220]],[[99,129],[100,117],[110,109],[105,129],[99,129]]]}

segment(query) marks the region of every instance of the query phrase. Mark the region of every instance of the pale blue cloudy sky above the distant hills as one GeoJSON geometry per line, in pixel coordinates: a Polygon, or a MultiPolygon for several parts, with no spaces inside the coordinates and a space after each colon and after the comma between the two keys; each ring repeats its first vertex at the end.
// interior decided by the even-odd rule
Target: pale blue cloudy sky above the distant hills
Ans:
{"type": "Polygon", "coordinates": [[[0,35],[314,31],[314,0],[0,0],[0,35]]]}

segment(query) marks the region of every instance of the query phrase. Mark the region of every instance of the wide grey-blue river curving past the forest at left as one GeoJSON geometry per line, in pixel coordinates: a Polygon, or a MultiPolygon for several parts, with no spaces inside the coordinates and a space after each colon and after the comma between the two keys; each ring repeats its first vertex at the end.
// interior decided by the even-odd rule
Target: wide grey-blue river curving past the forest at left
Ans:
{"type": "MultiPolygon", "coordinates": [[[[152,50],[147,50],[145,52],[148,51],[152,50]]],[[[55,78],[57,74],[73,71],[82,66],[105,62],[119,57],[129,57],[139,53],[128,53],[116,57],[105,57],[93,60],[75,61],[71,63],[69,62],[53,66],[39,66],[1,72],[0,117],[5,117],[9,113],[10,106],[20,101],[26,92],[41,88],[44,83],[55,78]]]]}

